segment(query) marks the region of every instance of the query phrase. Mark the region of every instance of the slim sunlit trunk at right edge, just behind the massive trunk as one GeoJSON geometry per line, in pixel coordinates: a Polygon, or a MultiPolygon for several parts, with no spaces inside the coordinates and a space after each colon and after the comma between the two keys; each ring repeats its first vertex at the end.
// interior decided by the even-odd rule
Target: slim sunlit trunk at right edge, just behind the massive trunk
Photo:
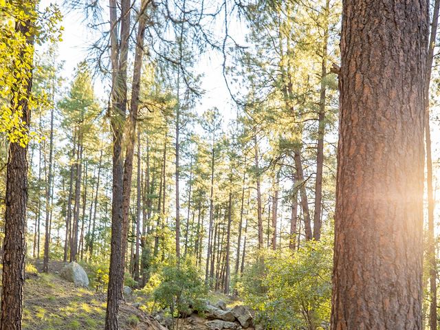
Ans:
{"type": "Polygon", "coordinates": [[[440,1],[434,2],[432,13],[432,24],[430,31],[430,41],[428,47],[428,57],[426,61],[426,81],[425,81],[425,146],[426,146],[426,181],[428,184],[428,248],[427,259],[429,267],[430,283],[430,312],[429,326],[430,330],[437,330],[437,258],[435,254],[435,229],[434,229],[434,190],[432,188],[432,150],[431,150],[431,132],[430,132],[430,107],[429,107],[429,86],[432,72],[432,61],[434,59],[434,47],[437,39],[437,26],[439,23],[440,1]]]}

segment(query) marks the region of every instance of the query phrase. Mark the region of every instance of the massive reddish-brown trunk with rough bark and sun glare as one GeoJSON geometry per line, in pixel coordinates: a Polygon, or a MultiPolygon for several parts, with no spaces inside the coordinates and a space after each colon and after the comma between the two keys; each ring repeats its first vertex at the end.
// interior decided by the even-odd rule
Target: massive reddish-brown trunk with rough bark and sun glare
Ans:
{"type": "Polygon", "coordinates": [[[421,329],[428,25],[427,0],[344,1],[331,329],[421,329]]]}

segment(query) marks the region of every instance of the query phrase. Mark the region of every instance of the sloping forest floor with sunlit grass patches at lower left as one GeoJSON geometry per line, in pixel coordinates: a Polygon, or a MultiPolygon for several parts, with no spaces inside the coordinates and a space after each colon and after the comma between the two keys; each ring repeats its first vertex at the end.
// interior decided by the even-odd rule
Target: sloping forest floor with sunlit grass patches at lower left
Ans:
{"type": "MultiPolygon", "coordinates": [[[[78,287],[58,276],[63,263],[51,263],[50,273],[27,276],[23,330],[104,329],[106,294],[78,287]]],[[[127,300],[120,306],[119,324],[123,330],[159,330],[151,316],[127,300]]],[[[164,329],[164,328],[162,328],[164,329]]]]}

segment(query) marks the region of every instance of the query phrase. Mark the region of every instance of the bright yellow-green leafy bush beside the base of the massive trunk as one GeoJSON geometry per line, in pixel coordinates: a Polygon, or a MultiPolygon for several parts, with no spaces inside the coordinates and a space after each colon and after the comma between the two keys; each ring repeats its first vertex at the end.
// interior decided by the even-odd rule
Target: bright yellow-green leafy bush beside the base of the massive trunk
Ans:
{"type": "Polygon", "coordinates": [[[292,254],[265,256],[265,276],[253,267],[239,292],[265,329],[328,329],[332,247],[329,239],[309,241],[292,254]],[[261,282],[260,282],[261,281],[261,282]]]}

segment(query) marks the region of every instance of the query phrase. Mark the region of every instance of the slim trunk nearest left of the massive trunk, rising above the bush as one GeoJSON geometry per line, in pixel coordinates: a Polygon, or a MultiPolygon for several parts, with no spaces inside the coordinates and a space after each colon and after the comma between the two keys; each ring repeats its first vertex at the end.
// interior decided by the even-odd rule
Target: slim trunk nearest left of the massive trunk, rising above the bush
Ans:
{"type": "Polygon", "coordinates": [[[322,167],[324,166],[324,135],[325,135],[325,101],[327,76],[327,44],[329,42],[329,10],[330,0],[325,1],[324,39],[322,41],[321,86],[318,113],[318,146],[316,153],[316,182],[315,182],[315,210],[314,210],[314,239],[321,239],[321,203],[322,203],[322,167]]]}

